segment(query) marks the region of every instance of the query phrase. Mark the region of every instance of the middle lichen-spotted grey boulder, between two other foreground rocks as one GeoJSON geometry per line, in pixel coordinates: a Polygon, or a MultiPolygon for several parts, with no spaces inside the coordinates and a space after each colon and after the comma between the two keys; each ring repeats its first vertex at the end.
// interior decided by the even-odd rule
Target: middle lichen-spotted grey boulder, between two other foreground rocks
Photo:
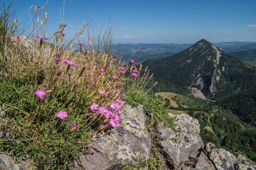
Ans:
{"type": "Polygon", "coordinates": [[[176,137],[173,130],[159,124],[156,127],[160,136],[158,145],[172,168],[194,166],[199,150],[204,146],[200,137],[199,122],[186,114],[169,115],[175,119],[179,136],[176,137]]]}

